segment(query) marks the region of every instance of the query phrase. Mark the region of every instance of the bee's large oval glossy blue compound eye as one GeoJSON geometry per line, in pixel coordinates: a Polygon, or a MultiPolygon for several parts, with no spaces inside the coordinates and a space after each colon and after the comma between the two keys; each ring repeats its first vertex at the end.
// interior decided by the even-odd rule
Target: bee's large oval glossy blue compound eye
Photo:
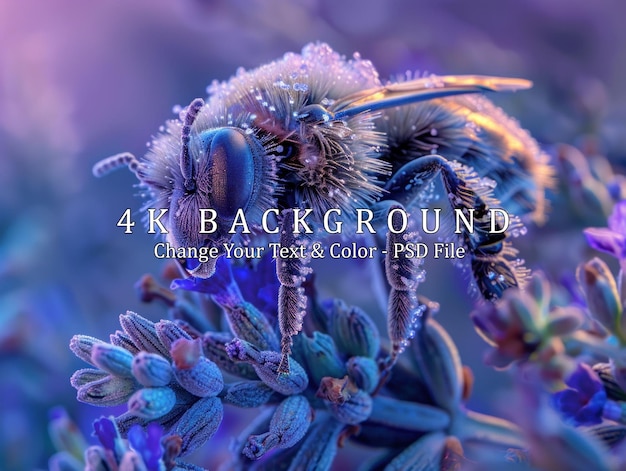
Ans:
{"type": "Polygon", "coordinates": [[[209,149],[211,203],[221,217],[246,209],[254,190],[254,155],[246,137],[233,128],[215,133],[209,149]]]}

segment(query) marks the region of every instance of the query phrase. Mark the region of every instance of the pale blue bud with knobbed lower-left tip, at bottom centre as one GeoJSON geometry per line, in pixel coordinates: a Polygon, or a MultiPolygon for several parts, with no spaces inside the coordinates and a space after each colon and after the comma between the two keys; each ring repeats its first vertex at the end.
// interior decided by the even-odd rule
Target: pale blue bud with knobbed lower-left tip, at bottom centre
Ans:
{"type": "Polygon", "coordinates": [[[248,438],[243,453],[256,460],[272,448],[290,448],[302,440],[312,420],[309,401],[304,396],[289,396],[276,408],[269,432],[248,438]]]}

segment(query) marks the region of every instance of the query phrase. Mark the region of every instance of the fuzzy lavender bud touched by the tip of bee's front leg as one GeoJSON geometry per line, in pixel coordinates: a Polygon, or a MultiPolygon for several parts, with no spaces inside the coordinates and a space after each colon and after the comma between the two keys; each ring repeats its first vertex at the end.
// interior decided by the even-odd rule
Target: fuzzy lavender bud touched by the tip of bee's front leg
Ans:
{"type": "Polygon", "coordinates": [[[309,384],[304,368],[292,358],[289,359],[289,373],[279,374],[281,354],[278,352],[260,351],[241,339],[234,339],[227,344],[226,352],[231,359],[252,365],[259,378],[279,393],[298,394],[309,384]]]}

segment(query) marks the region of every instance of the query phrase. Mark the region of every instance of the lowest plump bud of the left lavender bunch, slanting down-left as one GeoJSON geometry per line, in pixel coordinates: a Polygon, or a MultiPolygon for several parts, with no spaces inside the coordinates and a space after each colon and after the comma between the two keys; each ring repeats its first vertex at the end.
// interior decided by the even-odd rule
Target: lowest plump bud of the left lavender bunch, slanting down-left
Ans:
{"type": "Polygon", "coordinates": [[[205,397],[196,401],[176,422],[170,431],[182,439],[181,456],[204,445],[217,431],[224,410],[216,397],[205,397]]]}

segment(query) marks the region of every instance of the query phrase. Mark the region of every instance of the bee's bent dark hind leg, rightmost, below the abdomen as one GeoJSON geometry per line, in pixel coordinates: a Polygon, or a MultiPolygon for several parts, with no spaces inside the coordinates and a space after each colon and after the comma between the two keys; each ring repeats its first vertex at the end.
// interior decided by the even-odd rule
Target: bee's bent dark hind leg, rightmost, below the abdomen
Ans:
{"type": "MultiPolygon", "coordinates": [[[[496,221],[496,230],[491,230],[489,209],[499,207],[500,203],[491,196],[492,187],[485,180],[457,162],[449,162],[440,155],[427,155],[412,160],[395,173],[385,186],[386,198],[410,206],[424,185],[439,174],[452,209],[466,217],[473,215],[473,230],[459,224],[459,237],[469,251],[476,288],[485,299],[498,299],[506,289],[518,286],[528,270],[523,268],[521,260],[514,259],[517,252],[505,241],[507,234],[502,223],[496,221]]],[[[514,225],[519,227],[521,223],[516,220],[514,225]]]]}

